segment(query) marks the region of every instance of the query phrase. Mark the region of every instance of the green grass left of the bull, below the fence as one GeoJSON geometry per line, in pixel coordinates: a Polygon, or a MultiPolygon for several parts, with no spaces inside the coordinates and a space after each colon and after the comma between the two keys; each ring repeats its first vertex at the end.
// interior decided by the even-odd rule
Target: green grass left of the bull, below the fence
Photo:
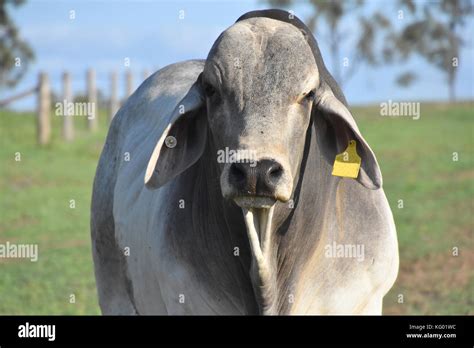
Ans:
{"type": "Polygon", "coordinates": [[[65,143],[61,119],[52,117],[52,142],[40,148],[34,115],[0,113],[0,243],[39,245],[37,262],[0,259],[2,314],[99,314],[89,210],[106,124],[89,134],[85,118],[77,118],[76,139],[65,143]]]}

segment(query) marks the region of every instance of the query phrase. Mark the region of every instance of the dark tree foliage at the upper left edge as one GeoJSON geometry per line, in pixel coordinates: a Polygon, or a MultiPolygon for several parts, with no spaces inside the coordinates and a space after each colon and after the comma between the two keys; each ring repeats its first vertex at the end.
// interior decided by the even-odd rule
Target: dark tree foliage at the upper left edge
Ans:
{"type": "Polygon", "coordinates": [[[34,59],[32,49],[21,39],[7,11],[10,5],[18,7],[23,3],[23,0],[0,0],[0,88],[14,87],[34,59]]]}

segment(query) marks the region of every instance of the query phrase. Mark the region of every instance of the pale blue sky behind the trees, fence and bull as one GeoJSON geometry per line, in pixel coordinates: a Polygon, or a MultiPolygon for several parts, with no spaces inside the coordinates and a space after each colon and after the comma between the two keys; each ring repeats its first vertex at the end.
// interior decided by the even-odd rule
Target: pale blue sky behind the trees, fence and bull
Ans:
{"type": "MultiPolygon", "coordinates": [[[[379,5],[378,0],[369,3],[379,5]]],[[[397,16],[393,2],[386,1],[386,15],[397,16]]],[[[50,74],[53,90],[61,90],[61,74],[72,74],[73,90],[85,89],[85,72],[96,69],[98,88],[108,95],[109,74],[118,71],[120,94],[125,92],[123,74],[131,69],[135,87],[141,82],[142,71],[156,71],[160,67],[186,59],[205,58],[217,36],[247,11],[270,7],[263,1],[28,1],[11,11],[21,35],[30,43],[36,61],[28,75],[14,90],[0,91],[0,99],[33,86],[40,70],[50,74]],[[74,11],[75,19],[71,19],[74,11]],[[184,18],[180,19],[183,14],[184,18]],[[126,58],[130,67],[124,66],[126,58]]],[[[308,7],[299,2],[292,9],[302,20],[309,16],[308,7]]],[[[350,43],[356,34],[355,18],[348,18],[347,40],[343,56],[351,56],[350,43]],[[353,29],[354,28],[354,29],[353,29]]],[[[456,83],[458,99],[474,99],[474,24],[472,19],[463,29],[466,46],[460,56],[456,83]]],[[[323,58],[331,70],[324,29],[316,38],[323,58]]],[[[405,66],[379,68],[361,66],[343,86],[352,104],[379,103],[391,100],[446,100],[447,85],[444,75],[421,58],[412,58],[405,66]],[[409,88],[394,82],[407,68],[419,79],[409,88]]],[[[31,109],[34,98],[13,104],[17,109],[31,109]]]]}

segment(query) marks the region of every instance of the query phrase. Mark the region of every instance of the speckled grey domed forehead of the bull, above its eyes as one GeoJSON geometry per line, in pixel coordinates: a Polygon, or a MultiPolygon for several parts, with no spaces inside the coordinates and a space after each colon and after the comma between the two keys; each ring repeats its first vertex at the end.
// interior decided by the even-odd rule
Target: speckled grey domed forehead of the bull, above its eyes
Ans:
{"type": "Polygon", "coordinates": [[[244,20],[223,32],[209,53],[204,74],[242,103],[291,103],[319,83],[303,33],[269,18],[244,20]]]}

